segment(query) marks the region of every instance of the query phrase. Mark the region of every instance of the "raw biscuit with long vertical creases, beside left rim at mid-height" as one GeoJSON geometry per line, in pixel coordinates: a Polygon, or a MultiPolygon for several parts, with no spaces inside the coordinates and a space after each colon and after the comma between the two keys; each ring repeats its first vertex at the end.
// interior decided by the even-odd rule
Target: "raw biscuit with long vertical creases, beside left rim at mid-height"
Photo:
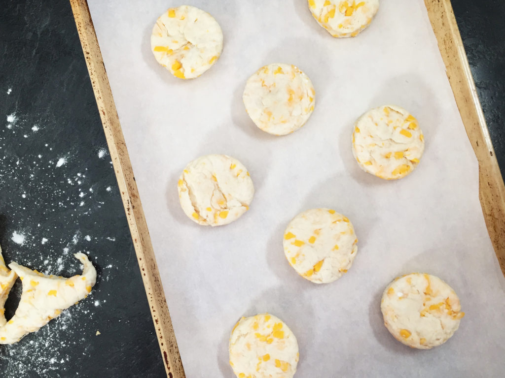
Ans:
{"type": "Polygon", "coordinates": [[[249,209],[254,196],[249,172],[227,155],[207,155],[191,161],[177,188],[182,210],[201,225],[233,222],[249,209]]]}

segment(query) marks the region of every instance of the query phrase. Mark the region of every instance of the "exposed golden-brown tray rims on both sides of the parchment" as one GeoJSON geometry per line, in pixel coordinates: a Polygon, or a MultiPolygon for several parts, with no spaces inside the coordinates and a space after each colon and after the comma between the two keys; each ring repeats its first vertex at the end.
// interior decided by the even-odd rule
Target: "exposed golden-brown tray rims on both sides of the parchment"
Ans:
{"type": "MultiPolygon", "coordinates": [[[[167,376],[184,378],[156,258],[87,2],[70,0],[70,3],[113,160],[167,376]]],[[[496,257],[505,276],[505,185],[494,155],[456,18],[450,0],[424,0],[424,3],[446,67],[447,78],[479,162],[479,199],[496,257]]]]}

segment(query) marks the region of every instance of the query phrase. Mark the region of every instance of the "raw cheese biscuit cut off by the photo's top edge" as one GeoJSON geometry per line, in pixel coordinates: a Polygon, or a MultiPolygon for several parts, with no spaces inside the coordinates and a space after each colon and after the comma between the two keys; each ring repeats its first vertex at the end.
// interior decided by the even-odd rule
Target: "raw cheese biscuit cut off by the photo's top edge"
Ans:
{"type": "Polygon", "coordinates": [[[372,22],[379,0],[309,0],[319,25],[334,37],[356,37],[372,22]]]}

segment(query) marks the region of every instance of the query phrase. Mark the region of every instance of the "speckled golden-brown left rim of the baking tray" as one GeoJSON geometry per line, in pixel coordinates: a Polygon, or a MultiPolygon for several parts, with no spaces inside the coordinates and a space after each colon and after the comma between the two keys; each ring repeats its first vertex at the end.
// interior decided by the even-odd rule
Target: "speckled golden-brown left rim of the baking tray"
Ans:
{"type": "Polygon", "coordinates": [[[86,0],[70,0],[168,378],[185,378],[135,176],[86,0]]]}

